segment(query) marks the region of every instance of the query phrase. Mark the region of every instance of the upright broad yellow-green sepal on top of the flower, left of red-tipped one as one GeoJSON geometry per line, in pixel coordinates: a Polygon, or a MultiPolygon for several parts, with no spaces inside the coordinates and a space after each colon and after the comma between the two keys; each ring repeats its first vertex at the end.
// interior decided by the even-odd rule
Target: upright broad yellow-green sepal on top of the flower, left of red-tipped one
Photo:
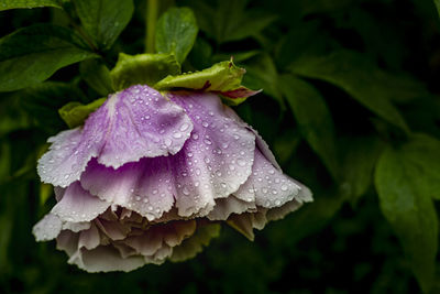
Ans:
{"type": "Polygon", "coordinates": [[[164,77],[179,73],[180,65],[174,55],[120,53],[110,78],[113,89],[121,90],[136,84],[153,86],[164,77]]]}

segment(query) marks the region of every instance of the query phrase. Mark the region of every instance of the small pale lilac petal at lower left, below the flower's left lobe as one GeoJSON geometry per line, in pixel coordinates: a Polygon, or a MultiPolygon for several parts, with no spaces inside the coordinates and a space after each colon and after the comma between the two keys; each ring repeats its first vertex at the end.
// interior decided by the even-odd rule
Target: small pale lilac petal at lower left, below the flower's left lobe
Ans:
{"type": "Polygon", "coordinates": [[[79,182],[67,187],[63,198],[52,208],[52,214],[63,221],[90,221],[106,211],[110,203],[103,202],[85,190],[79,182]]]}

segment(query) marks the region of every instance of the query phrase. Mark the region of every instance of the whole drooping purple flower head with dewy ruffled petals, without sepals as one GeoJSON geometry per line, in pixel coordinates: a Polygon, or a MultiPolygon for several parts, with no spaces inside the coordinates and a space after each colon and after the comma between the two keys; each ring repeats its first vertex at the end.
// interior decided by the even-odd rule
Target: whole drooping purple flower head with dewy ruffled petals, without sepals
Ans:
{"type": "Polygon", "coordinates": [[[57,204],[33,231],[89,272],[191,258],[220,220],[252,239],[311,200],[212,94],[132,86],[48,142],[37,170],[57,204]]]}

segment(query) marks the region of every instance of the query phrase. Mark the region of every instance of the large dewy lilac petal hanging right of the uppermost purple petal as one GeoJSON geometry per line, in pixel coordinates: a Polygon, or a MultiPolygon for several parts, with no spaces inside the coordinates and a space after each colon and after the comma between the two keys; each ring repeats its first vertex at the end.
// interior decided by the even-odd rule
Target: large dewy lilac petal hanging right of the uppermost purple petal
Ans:
{"type": "Polygon", "coordinates": [[[172,157],[180,216],[206,216],[215,199],[234,193],[251,175],[255,135],[224,113],[211,94],[169,95],[194,123],[191,139],[172,157]]]}

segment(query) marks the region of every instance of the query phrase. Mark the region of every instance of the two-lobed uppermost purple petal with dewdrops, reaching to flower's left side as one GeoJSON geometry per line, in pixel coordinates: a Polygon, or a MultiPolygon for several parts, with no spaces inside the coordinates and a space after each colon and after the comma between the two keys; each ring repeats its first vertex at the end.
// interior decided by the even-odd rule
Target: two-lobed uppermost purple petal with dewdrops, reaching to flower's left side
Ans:
{"type": "Polygon", "coordinates": [[[111,95],[84,128],[51,138],[38,174],[45,183],[66,187],[79,179],[91,157],[118,168],[142,157],[175,154],[191,130],[180,107],[147,86],[133,86],[111,95]]]}

